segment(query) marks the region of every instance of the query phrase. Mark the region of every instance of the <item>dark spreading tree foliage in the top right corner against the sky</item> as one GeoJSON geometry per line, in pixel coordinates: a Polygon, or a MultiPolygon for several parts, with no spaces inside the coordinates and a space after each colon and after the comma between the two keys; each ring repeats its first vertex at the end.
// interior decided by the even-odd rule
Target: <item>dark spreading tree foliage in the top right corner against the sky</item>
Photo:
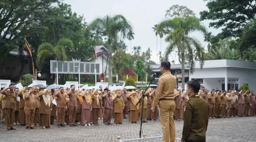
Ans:
{"type": "Polygon", "coordinates": [[[200,12],[200,20],[212,20],[209,27],[222,28],[218,38],[241,36],[244,26],[255,18],[255,0],[205,0],[207,8],[200,12]]]}

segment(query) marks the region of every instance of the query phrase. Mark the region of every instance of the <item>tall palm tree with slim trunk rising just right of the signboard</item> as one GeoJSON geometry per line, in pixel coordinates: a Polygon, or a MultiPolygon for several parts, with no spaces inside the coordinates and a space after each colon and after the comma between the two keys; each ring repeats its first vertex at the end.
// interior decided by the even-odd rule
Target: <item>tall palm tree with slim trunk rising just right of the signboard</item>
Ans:
{"type": "Polygon", "coordinates": [[[110,17],[106,15],[103,18],[97,18],[90,24],[93,31],[100,30],[102,36],[106,37],[108,46],[108,83],[112,84],[112,53],[117,49],[117,43],[120,38],[123,40],[128,32],[133,32],[131,24],[123,15],[110,17]],[[121,37],[119,37],[119,34],[121,37]]]}

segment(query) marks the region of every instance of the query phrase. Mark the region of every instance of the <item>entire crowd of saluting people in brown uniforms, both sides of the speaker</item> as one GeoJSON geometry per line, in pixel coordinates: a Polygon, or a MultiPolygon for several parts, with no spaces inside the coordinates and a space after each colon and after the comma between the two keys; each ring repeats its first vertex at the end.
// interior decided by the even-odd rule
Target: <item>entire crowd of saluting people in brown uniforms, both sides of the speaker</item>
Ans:
{"type": "MultiPolygon", "coordinates": [[[[7,130],[15,130],[13,125],[26,126],[26,129],[40,127],[50,128],[56,123],[58,127],[82,125],[99,125],[103,119],[105,125],[122,124],[129,116],[131,123],[137,123],[142,115],[142,122],[156,120],[158,106],[152,109],[155,90],[149,88],[143,103],[139,102],[144,91],[112,90],[108,87],[100,90],[76,90],[70,88],[47,90],[38,87],[24,87],[21,90],[12,84],[1,88],[0,107],[1,121],[6,123],[7,130]],[[54,101],[55,100],[55,101],[54,101]],[[56,105],[55,103],[56,102],[56,105]],[[136,105],[139,102],[139,105],[136,105]]],[[[201,88],[199,96],[209,104],[209,118],[236,116],[255,116],[256,98],[249,90],[209,91],[201,88]]],[[[174,119],[184,118],[185,103],[189,100],[185,90],[175,91],[174,119]]],[[[206,114],[207,115],[207,114],[206,114]]]]}

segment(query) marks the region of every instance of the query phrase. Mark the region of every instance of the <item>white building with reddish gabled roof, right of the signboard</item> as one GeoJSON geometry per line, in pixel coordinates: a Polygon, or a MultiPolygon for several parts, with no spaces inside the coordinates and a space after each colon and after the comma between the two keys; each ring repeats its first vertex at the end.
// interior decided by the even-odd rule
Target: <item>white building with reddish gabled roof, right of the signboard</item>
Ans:
{"type": "Polygon", "coordinates": [[[108,63],[107,63],[108,49],[103,45],[95,46],[94,48],[95,48],[95,53],[97,55],[95,63],[100,64],[100,73],[105,73],[106,71],[106,73],[108,74],[108,63]]]}

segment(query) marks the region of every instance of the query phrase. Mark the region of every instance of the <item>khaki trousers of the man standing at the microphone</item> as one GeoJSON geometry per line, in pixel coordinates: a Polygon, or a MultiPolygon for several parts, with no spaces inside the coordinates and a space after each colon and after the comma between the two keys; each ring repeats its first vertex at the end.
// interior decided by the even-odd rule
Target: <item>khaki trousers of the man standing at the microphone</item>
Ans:
{"type": "Polygon", "coordinates": [[[163,131],[162,142],[175,142],[175,126],[173,120],[175,107],[174,100],[159,101],[159,120],[163,131]]]}

